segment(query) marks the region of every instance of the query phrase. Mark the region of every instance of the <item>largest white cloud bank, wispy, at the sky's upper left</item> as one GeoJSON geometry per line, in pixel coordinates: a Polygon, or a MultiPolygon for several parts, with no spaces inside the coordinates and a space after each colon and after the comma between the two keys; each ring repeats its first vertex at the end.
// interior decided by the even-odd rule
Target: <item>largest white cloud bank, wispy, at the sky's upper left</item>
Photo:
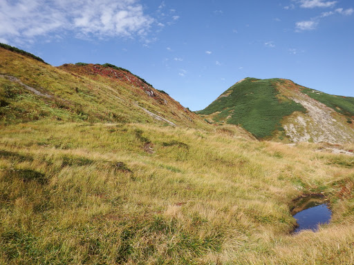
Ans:
{"type": "Polygon", "coordinates": [[[0,35],[34,39],[59,31],[81,36],[145,36],[156,22],[139,0],[0,1],[0,35]]]}

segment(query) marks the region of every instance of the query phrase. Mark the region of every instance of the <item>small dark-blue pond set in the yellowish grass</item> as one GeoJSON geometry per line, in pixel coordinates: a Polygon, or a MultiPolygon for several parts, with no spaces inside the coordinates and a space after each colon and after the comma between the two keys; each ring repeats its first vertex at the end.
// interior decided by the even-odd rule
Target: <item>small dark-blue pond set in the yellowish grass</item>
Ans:
{"type": "Polygon", "coordinates": [[[297,220],[298,225],[292,233],[299,233],[305,229],[315,232],[319,224],[328,224],[332,217],[328,202],[321,195],[311,195],[295,200],[291,214],[297,220]]]}

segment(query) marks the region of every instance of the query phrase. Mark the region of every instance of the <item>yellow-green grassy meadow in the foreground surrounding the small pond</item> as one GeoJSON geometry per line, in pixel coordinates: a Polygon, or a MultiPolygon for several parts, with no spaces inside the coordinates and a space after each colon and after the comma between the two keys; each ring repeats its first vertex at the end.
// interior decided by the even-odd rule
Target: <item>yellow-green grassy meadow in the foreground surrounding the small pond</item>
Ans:
{"type": "Polygon", "coordinates": [[[1,264],[354,261],[353,157],[232,127],[44,120],[0,132],[1,264]],[[333,222],[289,235],[292,199],[320,192],[333,222]]]}

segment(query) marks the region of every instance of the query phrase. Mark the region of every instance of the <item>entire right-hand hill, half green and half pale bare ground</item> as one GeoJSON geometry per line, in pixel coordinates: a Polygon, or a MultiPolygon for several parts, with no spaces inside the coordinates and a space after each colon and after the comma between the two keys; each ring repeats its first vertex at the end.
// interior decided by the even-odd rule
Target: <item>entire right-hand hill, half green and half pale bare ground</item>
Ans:
{"type": "Polygon", "coordinates": [[[354,141],[354,98],[286,79],[243,79],[197,113],[214,123],[241,125],[259,139],[354,141]]]}

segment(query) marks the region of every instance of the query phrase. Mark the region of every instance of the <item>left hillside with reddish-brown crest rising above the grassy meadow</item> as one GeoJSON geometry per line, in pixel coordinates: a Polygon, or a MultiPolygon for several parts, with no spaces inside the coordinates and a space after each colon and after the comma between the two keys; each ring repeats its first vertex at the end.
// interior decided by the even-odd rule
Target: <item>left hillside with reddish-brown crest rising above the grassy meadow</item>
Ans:
{"type": "Polygon", "coordinates": [[[122,68],[109,64],[55,68],[3,48],[0,56],[1,124],[39,119],[205,124],[165,92],[122,68]]]}

